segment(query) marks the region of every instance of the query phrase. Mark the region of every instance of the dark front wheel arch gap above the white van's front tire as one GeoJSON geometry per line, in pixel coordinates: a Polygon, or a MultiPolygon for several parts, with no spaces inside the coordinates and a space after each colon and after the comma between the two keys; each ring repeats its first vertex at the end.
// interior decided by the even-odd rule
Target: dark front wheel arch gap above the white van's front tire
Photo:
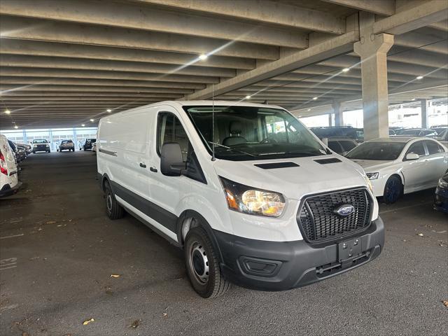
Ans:
{"type": "MultiPolygon", "coordinates": [[[[209,236],[211,240],[211,244],[213,244],[213,247],[218,255],[219,261],[223,262],[223,255],[221,254],[221,249],[219,248],[218,241],[216,240],[215,234],[213,232],[213,229],[211,228],[209,222],[202,216],[200,213],[198,213],[195,210],[186,210],[183,211],[181,216],[179,216],[179,219],[176,223],[176,232],[177,232],[177,240],[179,241],[179,245],[183,248],[184,244],[184,235],[182,234],[183,227],[185,225],[190,225],[190,228],[188,228],[188,231],[192,228],[195,228],[197,226],[200,226],[203,228],[207,235],[209,236]]],[[[188,233],[185,232],[186,234],[188,233]]],[[[186,235],[185,235],[186,237],[186,235]]]]}

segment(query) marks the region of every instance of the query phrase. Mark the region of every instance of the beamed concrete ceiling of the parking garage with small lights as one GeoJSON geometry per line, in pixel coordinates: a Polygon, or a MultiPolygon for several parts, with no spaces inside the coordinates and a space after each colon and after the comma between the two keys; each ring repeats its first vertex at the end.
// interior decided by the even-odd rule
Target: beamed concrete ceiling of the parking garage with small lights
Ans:
{"type": "Polygon", "coordinates": [[[96,124],[108,109],[212,94],[355,106],[359,10],[395,35],[391,103],[448,96],[444,0],[1,0],[1,128],[96,124]]]}

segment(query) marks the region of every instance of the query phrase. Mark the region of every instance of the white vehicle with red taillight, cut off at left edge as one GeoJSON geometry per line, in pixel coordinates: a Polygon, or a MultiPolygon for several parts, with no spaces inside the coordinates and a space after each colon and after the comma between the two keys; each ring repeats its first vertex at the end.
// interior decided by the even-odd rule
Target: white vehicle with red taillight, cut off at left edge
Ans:
{"type": "Polygon", "coordinates": [[[0,197],[13,195],[21,184],[13,150],[6,136],[0,134],[0,197]]]}

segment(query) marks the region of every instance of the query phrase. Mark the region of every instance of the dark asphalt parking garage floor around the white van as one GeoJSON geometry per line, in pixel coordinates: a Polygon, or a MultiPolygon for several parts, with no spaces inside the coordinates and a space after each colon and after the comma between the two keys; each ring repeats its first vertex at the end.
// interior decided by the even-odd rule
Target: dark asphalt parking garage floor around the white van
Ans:
{"type": "Polygon", "coordinates": [[[179,249],[131,216],[106,218],[93,153],[36,154],[22,167],[22,190],[0,200],[0,335],[448,333],[448,216],[432,210],[433,190],[381,205],[386,247],[363,267],[204,300],[179,249]]]}

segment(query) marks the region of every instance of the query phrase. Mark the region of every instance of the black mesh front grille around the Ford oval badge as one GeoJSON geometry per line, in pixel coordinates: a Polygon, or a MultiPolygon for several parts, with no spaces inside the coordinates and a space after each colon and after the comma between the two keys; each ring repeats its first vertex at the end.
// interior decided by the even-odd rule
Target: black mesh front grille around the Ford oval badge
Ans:
{"type": "Polygon", "coordinates": [[[363,230],[370,225],[371,217],[372,199],[365,188],[358,188],[306,197],[297,214],[297,223],[304,239],[315,243],[363,230]],[[354,207],[348,216],[336,212],[344,204],[354,207]]]}

